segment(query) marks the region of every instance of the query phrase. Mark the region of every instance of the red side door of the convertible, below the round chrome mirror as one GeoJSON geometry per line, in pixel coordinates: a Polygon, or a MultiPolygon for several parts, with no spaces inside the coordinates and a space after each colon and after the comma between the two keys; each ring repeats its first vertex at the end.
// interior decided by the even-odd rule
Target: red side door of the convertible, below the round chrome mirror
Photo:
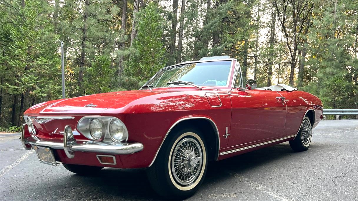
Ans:
{"type": "Polygon", "coordinates": [[[286,103],[276,91],[233,88],[231,129],[228,148],[280,138],[286,121],[286,103]]]}

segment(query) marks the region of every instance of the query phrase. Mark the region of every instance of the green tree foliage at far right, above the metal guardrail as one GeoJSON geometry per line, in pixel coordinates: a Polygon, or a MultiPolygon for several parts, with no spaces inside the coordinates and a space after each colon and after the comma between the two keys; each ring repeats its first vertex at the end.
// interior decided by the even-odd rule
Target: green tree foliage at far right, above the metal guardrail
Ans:
{"type": "MultiPolygon", "coordinates": [[[[314,29],[310,33],[309,49],[311,57],[307,64],[309,70],[305,74],[307,81],[304,88],[308,92],[318,95],[325,108],[345,109],[354,108],[353,69],[358,69],[357,59],[349,53],[349,46],[354,43],[349,29],[357,16],[348,15],[354,8],[347,7],[340,2],[334,22],[334,3],[325,4],[326,10],[315,10],[313,18],[314,29]]],[[[357,6],[357,5],[355,5],[357,6]]],[[[355,85],[357,87],[357,85],[355,85]]]]}

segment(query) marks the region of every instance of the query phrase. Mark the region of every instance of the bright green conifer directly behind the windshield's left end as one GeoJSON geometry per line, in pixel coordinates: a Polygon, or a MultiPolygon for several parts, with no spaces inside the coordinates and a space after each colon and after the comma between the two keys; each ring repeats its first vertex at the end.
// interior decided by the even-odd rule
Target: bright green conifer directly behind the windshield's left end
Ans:
{"type": "Polygon", "coordinates": [[[137,51],[130,55],[124,69],[125,75],[139,80],[148,80],[159,69],[165,67],[167,59],[161,38],[165,24],[161,9],[154,2],[138,13],[138,35],[132,47],[137,51]]]}

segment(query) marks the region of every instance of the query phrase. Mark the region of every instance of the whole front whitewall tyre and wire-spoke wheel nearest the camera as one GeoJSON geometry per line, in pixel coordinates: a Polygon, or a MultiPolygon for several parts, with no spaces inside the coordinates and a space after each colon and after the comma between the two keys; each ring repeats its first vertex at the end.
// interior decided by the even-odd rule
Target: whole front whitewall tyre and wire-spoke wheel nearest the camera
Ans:
{"type": "Polygon", "coordinates": [[[192,196],[204,180],[207,148],[199,131],[184,129],[163,144],[147,175],[153,189],[167,198],[192,196]]]}

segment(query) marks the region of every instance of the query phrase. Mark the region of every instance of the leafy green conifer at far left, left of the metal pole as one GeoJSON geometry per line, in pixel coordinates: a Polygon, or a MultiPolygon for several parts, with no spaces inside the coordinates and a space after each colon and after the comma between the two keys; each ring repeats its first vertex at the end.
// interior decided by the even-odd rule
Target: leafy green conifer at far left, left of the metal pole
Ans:
{"type": "Polygon", "coordinates": [[[51,7],[45,1],[10,3],[0,4],[0,9],[6,11],[0,15],[0,88],[4,101],[0,115],[12,118],[1,118],[0,124],[19,125],[18,117],[31,100],[59,97],[58,36],[48,16],[51,7]],[[25,97],[30,100],[26,105],[25,97]],[[14,102],[11,104],[9,99],[14,102]]]}

